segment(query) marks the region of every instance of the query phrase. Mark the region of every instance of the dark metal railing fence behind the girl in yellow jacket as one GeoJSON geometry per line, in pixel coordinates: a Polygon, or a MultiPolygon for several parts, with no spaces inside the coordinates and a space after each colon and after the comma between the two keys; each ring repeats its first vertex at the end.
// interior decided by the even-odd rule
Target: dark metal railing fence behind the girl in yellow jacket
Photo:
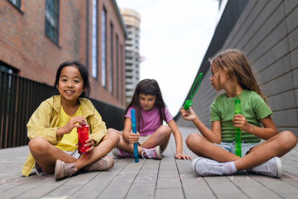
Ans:
{"type": "MultiPolygon", "coordinates": [[[[0,149],[24,146],[29,142],[27,123],[43,102],[57,90],[49,85],[0,71],[0,149]]],[[[107,128],[123,129],[124,109],[89,99],[107,128]]]]}

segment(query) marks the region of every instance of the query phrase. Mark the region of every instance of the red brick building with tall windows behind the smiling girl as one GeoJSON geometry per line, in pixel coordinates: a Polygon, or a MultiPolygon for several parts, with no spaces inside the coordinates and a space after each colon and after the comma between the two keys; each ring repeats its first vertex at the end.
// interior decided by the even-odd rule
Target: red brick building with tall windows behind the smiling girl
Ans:
{"type": "Polygon", "coordinates": [[[120,108],[125,35],[115,0],[0,0],[0,70],[53,85],[61,63],[82,60],[91,98],[120,108]]]}

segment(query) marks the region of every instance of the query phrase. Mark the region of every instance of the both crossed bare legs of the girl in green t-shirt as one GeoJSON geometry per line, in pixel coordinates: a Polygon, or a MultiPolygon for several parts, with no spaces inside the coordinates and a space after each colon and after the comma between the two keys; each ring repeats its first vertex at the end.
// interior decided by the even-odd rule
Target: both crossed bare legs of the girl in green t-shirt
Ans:
{"type": "Polygon", "coordinates": [[[219,162],[234,161],[238,171],[256,167],[277,156],[282,157],[297,145],[297,138],[291,131],[283,131],[269,140],[253,147],[240,158],[208,141],[203,136],[192,133],[186,139],[187,147],[200,157],[219,162]]]}

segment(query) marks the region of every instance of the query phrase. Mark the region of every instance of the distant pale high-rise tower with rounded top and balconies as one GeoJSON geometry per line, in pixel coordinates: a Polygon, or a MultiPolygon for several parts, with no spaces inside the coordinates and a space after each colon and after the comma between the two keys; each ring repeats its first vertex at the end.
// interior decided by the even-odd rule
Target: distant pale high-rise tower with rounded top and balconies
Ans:
{"type": "Polygon", "coordinates": [[[128,36],[125,40],[125,82],[126,102],[129,103],[134,89],[140,81],[140,22],[138,12],[132,9],[120,8],[124,22],[127,26],[128,36]]]}

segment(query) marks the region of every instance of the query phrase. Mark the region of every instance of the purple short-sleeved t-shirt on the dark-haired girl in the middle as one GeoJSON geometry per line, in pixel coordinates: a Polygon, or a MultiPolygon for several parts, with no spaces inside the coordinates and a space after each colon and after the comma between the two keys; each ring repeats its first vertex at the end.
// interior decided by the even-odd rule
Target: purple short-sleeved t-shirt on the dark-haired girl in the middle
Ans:
{"type": "MultiPolygon", "coordinates": [[[[124,115],[125,117],[128,118],[132,118],[131,115],[131,109],[136,109],[136,106],[131,106],[126,115],[124,115]]],[[[140,106],[140,111],[141,111],[141,115],[143,116],[143,121],[144,121],[144,127],[142,129],[142,118],[140,118],[141,120],[141,125],[140,125],[140,135],[141,136],[147,136],[147,135],[152,135],[157,128],[159,128],[162,123],[160,123],[160,117],[158,114],[158,106],[155,103],[153,106],[152,110],[144,110],[141,106],[140,106]]],[[[137,113],[137,111],[136,111],[137,113]]],[[[165,121],[171,121],[174,117],[171,115],[170,111],[167,109],[167,107],[164,107],[164,114],[165,114],[165,121]]],[[[138,128],[138,120],[136,122],[137,124],[137,128],[138,128]]]]}

